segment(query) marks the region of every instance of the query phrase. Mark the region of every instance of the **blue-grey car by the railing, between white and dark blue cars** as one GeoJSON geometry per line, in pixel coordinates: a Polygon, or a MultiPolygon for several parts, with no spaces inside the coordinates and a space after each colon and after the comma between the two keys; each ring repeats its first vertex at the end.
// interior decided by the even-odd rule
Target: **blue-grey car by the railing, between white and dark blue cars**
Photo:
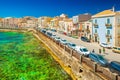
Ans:
{"type": "Polygon", "coordinates": [[[99,54],[96,54],[96,53],[90,53],[89,58],[91,60],[97,62],[101,66],[108,66],[108,61],[102,55],[99,55],[99,54]]]}

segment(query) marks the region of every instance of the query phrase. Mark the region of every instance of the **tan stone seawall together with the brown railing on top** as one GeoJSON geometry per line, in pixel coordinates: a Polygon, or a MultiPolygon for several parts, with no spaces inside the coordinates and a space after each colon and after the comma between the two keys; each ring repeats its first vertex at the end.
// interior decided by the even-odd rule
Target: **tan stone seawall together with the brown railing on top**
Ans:
{"type": "Polygon", "coordinates": [[[84,57],[77,53],[75,50],[55,41],[49,36],[38,32],[44,37],[50,50],[64,63],[66,67],[71,69],[71,73],[75,75],[75,80],[120,80],[120,76],[112,73],[108,68],[102,67],[99,64],[91,61],[89,58],[84,57]]]}

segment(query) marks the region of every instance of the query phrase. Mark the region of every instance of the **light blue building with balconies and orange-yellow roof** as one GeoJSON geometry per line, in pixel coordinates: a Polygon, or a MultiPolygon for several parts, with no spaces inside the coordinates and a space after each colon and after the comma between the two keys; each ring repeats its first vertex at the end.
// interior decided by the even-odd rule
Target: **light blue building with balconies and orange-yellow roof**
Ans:
{"type": "Polygon", "coordinates": [[[120,46],[120,12],[104,10],[92,16],[93,40],[120,46]]]}

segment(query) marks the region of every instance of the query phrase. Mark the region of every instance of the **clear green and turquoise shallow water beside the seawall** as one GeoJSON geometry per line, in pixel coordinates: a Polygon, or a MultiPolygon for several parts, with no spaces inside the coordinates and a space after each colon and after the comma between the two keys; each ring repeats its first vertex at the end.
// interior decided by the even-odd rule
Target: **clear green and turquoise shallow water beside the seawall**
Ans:
{"type": "Polygon", "coordinates": [[[31,33],[0,32],[0,80],[71,80],[31,33]]]}

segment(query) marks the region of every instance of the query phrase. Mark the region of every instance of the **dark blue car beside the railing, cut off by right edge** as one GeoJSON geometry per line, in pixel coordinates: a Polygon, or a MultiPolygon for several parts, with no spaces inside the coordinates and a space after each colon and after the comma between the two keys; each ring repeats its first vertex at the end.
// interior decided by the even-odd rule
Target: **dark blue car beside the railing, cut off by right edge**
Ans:
{"type": "Polygon", "coordinates": [[[111,72],[116,72],[120,75],[120,62],[111,61],[109,64],[109,69],[111,72]]]}

